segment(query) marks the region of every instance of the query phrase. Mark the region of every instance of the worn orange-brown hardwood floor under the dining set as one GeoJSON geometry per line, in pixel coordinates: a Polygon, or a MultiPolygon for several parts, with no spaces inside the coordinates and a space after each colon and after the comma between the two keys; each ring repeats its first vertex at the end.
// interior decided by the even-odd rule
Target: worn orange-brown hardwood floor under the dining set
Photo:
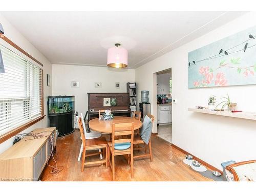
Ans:
{"type": "MultiPolygon", "coordinates": [[[[80,133],[74,133],[57,139],[57,165],[63,170],[57,175],[51,174],[52,168],[46,166],[41,181],[111,181],[112,172],[105,165],[86,166],[81,172],[81,161],[77,161],[81,146],[80,133]]],[[[152,135],[153,162],[150,159],[138,159],[134,162],[134,178],[131,178],[130,165],[123,156],[116,157],[116,181],[212,181],[195,172],[183,163],[185,154],[172,147],[165,140],[152,135]]],[[[140,152],[135,152],[140,153],[140,152]]],[[[89,158],[99,158],[98,156],[89,158]]],[[[89,159],[90,161],[90,159],[89,159]]],[[[53,159],[49,161],[53,165],[53,159]]]]}

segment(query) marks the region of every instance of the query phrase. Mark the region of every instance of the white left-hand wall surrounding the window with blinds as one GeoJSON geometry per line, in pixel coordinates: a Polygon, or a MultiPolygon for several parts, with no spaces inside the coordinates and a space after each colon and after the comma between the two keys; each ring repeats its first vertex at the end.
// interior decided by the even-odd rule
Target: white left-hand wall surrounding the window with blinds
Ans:
{"type": "MultiPolygon", "coordinates": [[[[47,97],[51,95],[52,90],[51,87],[48,87],[46,85],[46,76],[47,74],[52,73],[52,67],[51,63],[47,60],[47,58],[42,55],[30,42],[22,35],[20,34],[9,22],[6,20],[1,14],[0,14],[0,23],[2,24],[5,35],[9,39],[11,39],[16,45],[18,45],[20,48],[25,50],[27,53],[29,53],[31,56],[36,58],[38,61],[40,61],[44,67],[42,68],[44,70],[44,113],[46,117],[42,119],[41,121],[37,122],[36,124],[30,126],[28,129],[24,130],[22,133],[28,133],[33,131],[35,128],[40,127],[47,127],[49,126],[49,119],[47,117],[47,97]]],[[[25,26],[26,27],[26,26],[25,26]]],[[[14,49],[12,46],[7,44],[3,39],[0,39],[0,44],[4,45],[5,47],[11,49],[15,53],[19,54],[20,56],[30,60],[31,62],[35,63],[33,60],[28,58],[27,56],[23,55],[16,49],[14,49]]],[[[36,63],[35,63],[36,64],[36,63]]],[[[0,144],[0,154],[7,150],[10,146],[12,146],[13,137],[8,139],[7,141],[0,144]]]]}

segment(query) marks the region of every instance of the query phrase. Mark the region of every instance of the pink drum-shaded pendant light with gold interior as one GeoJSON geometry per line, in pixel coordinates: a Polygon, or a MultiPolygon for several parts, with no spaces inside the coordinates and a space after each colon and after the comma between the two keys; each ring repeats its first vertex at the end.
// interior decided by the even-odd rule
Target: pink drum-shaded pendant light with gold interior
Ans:
{"type": "Polygon", "coordinates": [[[116,47],[108,49],[108,63],[112,68],[125,68],[128,66],[128,52],[121,48],[120,44],[115,44],[116,47]]]}

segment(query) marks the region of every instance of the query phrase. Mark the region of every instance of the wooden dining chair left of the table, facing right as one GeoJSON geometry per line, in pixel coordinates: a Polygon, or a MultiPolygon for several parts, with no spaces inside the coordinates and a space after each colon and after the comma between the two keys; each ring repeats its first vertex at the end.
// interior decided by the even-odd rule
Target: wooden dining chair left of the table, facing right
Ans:
{"type": "Polygon", "coordinates": [[[80,134],[81,134],[81,137],[82,137],[82,144],[83,144],[82,172],[83,172],[83,169],[84,169],[85,165],[105,163],[106,167],[108,167],[108,142],[106,142],[104,137],[99,137],[99,138],[95,138],[95,139],[87,139],[86,140],[86,135],[83,132],[81,117],[78,118],[78,125],[79,125],[79,130],[80,130],[80,134]],[[99,155],[100,153],[102,153],[102,152],[97,152],[97,153],[87,155],[86,151],[88,151],[88,150],[99,150],[99,148],[102,148],[103,152],[105,152],[104,159],[103,160],[98,160],[98,161],[86,162],[86,157],[99,155]]]}

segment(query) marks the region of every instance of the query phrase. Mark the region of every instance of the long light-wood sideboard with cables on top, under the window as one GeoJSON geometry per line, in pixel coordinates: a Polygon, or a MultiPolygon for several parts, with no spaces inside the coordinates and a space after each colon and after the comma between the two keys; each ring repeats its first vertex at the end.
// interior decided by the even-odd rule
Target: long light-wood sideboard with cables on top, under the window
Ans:
{"type": "Polygon", "coordinates": [[[24,137],[0,155],[0,181],[37,181],[56,146],[56,128],[35,129],[39,138],[24,137]]]}

